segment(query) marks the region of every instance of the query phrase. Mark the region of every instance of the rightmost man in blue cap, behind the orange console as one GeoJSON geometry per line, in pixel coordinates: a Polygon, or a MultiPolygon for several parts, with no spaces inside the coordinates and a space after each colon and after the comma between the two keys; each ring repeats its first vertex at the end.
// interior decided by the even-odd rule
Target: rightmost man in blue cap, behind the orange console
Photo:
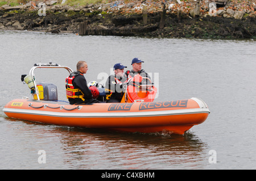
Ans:
{"type": "MultiPolygon", "coordinates": [[[[133,61],[131,61],[131,65],[133,66],[133,69],[127,70],[125,72],[127,79],[130,79],[130,78],[134,77],[134,75],[139,74],[142,77],[147,77],[151,80],[150,76],[146,73],[146,71],[144,71],[142,69],[142,62],[144,62],[144,61],[142,61],[139,58],[133,58],[133,61]]],[[[146,81],[144,83],[148,83],[148,82],[146,81]]],[[[149,83],[149,84],[151,84],[151,83],[149,83]]]]}

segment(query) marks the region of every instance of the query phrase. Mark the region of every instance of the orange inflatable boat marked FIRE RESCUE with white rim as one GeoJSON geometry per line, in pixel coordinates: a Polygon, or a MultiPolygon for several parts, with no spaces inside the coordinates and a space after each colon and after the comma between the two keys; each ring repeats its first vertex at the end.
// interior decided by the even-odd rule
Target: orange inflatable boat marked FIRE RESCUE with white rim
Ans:
{"type": "MultiPolygon", "coordinates": [[[[70,73],[72,72],[71,69],[60,65],[35,65],[31,69],[30,78],[34,77],[34,69],[52,68],[53,66],[65,68],[70,73]]],[[[30,86],[30,81],[26,82],[28,86],[30,86]]],[[[165,102],[146,102],[144,100],[150,101],[152,99],[143,98],[121,103],[71,105],[65,101],[50,100],[56,99],[54,98],[55,95],[48,94],[48,100],[46,100],[46,95],[44,97],[40,95],[40,86],[42,85],[36,85],[35,78],[32,79],[32,82],[35,88],[32,99],[24,97],[11,100],[3,108],[3,112],[7,116],[69,127],[143,133],[167,131],[184,134],[194,125],[203,123],[210,113],[207,104],[199,98],[165,102]]],[[[48,87],[43,87],[43,92],[55,88],[54,85],[50,84],[48,87]]],[[[148,95],[148,92],[145,94],[148,95]]],[[[150,94],[150,96],[152,95],[154,93],[150,94]]]]}

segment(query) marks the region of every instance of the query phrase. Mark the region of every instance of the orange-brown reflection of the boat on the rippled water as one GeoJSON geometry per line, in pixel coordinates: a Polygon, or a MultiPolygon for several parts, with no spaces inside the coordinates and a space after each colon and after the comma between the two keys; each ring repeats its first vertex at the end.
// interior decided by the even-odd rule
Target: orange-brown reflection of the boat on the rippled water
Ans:
{"type": "Polygon", "coordinates": [[[68,162],[76,165],[77,162],[73,159],[73,162],[70,161],[70,158],[83,159],[85,162],[93,162],[94,168],[170,169],[175,163],[200,159],[201,152],[207,148],[193,134],[162,136],[60,129],[61,143],[68,155],[65,157],[68,162]]]}

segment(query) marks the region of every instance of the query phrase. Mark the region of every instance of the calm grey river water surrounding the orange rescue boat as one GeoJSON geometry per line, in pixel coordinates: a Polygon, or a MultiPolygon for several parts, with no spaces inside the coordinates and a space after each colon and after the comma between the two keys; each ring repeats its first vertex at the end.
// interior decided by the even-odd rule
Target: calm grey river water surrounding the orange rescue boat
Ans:
{"type": "MultiPolygon", "coordinates": [[[[0,169],[256,169],[255,40],[0,32],[0,169]],[[156,100],[198,97],[211,113],[184,136],[117,133],[10,119],[7,102],[30,97],[20,75],[35,63],[76,69],[88,62],[88,81],[104,83],[111,68],[141,58],[158,87],[156,100]],[[39,163],[41,151],[44,163],[39,163]]],[[[65,98],[66,70],[36,69],[37,81],[57,85],[65,98]]]]}

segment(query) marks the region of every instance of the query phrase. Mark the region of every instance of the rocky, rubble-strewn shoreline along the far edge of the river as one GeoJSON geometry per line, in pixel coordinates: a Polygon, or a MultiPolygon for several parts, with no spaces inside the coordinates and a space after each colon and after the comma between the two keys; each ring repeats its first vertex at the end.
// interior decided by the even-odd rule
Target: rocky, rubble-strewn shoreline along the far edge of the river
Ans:
{"type": "Polygon", "coordinates": [[[0,7],[0,30],[77,35],[256,39],[255,2],[209,1],[98,3],[85,6],[31,1],[0,7]]]}

